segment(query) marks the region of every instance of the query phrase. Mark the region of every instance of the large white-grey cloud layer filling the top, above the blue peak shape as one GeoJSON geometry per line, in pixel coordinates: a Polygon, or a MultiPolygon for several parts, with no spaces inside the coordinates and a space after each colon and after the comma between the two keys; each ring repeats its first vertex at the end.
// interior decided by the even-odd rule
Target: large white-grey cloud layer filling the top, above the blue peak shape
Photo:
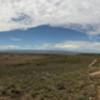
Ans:
{"type": "Polygon", "coordinates": [[[100,0],[0,0],[0,31],[39,25],[100,33],[100,0]]]}

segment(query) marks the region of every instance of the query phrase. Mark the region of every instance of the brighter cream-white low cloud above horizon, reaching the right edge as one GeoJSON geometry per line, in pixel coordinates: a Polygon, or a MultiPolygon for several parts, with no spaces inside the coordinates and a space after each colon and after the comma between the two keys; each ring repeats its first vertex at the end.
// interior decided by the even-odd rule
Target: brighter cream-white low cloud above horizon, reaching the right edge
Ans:
{"type": "Polygon", "coordinates": [[[91,41],[65,41],[59,43],[44,43],[36,49],[43,50],[68,50],[74,52],[100,53],[100,42],[91,41]],[[91,45],[92,44],[92,45],[91,45]]]}

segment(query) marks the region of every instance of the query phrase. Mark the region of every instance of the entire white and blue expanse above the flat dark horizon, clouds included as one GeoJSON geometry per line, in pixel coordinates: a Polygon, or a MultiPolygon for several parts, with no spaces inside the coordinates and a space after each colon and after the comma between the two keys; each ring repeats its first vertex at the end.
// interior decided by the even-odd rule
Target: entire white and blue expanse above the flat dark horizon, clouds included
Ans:
{"type": "Polygon", "coordinates": [[[100,53],[100,0],[0,0],[0,51],[100,53]]]}

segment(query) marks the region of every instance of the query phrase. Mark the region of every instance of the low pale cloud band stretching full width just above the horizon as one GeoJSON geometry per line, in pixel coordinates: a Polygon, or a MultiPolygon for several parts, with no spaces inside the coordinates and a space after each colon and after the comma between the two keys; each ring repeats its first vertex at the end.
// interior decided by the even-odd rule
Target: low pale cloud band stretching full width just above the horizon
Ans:
{"type": "Polygon", "coordinates": [[[91,41],[64,41],[57,43],[41,43],[41,44],[9,44],[0,45],[2,50],[65,50],[83,53],[100,53],[100,42],[91,41]],[[91,45],[92,44],[92,45],[91,45]]]}

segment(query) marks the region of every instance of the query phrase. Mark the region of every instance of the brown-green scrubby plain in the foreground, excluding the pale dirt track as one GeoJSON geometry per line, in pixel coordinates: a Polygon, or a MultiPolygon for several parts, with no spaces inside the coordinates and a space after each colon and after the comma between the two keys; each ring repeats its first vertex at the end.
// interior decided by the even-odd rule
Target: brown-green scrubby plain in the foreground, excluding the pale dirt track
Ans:
{"type": "Polygon", "coordinates": [[[0,54],[0,100],[95,100],[95,58],[99,69],[98,55],[0,54]]]}

